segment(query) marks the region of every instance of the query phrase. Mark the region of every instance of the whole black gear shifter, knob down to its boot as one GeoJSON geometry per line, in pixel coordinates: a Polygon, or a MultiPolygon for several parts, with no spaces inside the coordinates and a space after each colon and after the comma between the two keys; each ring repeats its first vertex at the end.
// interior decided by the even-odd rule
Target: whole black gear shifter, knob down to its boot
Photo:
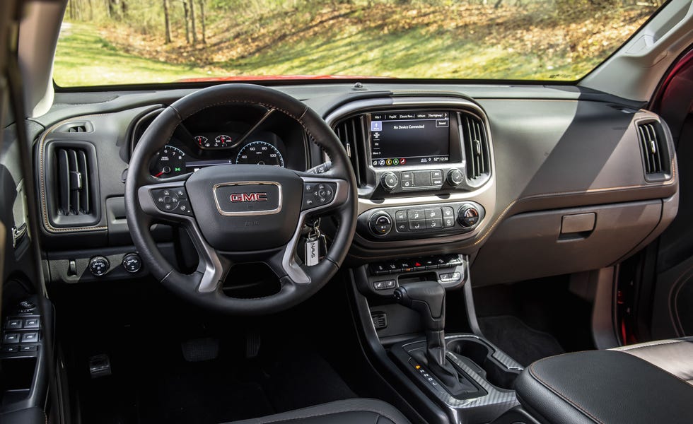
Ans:
{"type": "Polygon", "coordinates": [[[429,370],[453,394],[476,388],[445,358],[445,288],[437,281],[417,281],[395,289],[400,305],[419,312],[426,333],[426,360],[429,370]]]}

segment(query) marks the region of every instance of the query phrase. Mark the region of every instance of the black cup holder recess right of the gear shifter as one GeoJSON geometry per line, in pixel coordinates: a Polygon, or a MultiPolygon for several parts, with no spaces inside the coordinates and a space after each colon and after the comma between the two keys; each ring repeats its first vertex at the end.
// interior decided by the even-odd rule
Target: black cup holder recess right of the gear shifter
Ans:
{"type": "Polygon", "coordinates": [[[493,358],[494,348],[478,338],[453,338],[448,341],[448,351],[467,358],[472,362],[470,365],[477,365],[479,375],[487,381],[501,389],[513,390],[515,379],[520,375],[519,370],[508,370],[508,368],[493,358]]]}

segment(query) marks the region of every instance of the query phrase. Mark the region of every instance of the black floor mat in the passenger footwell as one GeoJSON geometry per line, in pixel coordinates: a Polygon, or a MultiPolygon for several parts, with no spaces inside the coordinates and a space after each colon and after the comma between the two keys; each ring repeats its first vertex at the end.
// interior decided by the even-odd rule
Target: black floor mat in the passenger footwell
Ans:
{"type": "Polygon", "coordinates": [[[479,318],[486,338],[524,367],[535,360],[564,353],[551,334],[532,329],[511,315],[479,318]]]}

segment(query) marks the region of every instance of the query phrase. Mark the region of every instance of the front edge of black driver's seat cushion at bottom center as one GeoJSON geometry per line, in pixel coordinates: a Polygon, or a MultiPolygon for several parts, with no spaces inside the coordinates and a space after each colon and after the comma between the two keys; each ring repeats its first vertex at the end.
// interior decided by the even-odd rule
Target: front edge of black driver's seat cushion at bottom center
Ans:
{"type": "Polygon", "coordinates": [[[400,411],[375,399],[347,399],[228,424],[409,424],[400,411]]]}

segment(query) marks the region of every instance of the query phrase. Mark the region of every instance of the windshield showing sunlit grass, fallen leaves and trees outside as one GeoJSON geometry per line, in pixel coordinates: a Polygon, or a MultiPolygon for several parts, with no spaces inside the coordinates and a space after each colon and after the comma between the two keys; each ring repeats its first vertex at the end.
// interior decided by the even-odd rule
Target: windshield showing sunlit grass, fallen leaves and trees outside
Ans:
{"type": "Polygon", "coordinates": [[[575,81],[656,8],[632,0],[69,1],[54,81],[575,81]]]}

